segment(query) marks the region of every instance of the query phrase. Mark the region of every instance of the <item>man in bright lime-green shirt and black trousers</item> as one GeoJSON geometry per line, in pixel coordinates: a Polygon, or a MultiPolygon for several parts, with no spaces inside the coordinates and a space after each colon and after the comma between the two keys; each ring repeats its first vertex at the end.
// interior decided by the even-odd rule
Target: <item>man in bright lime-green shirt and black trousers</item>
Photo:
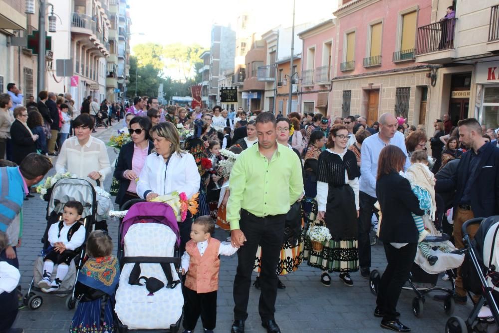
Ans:
{"type": "Polygon", "coordinates": [[[275,323],[277,275],[275,269],[284,237],[286,213],[303,194],[300,160],[291,149],[278,145],[275,117],[262,112],[256,117],[258,144],[240,154],[231,172],[227,220],[231,242],[240,248],[234,279],[232,333],[244,333],[248,318],[251,272],[261,246],[261,295],[258,312],[267,332],[279,333],[275,323]]]}

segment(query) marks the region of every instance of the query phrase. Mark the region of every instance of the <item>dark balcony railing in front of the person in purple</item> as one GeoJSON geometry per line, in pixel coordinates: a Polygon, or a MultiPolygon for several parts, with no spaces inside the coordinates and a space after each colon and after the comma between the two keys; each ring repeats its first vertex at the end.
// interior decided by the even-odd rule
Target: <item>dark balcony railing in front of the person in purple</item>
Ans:
{"type": "Polygon", "coordinates": [[[425,54],[454,48],[456,18],[449,18],[418,28],[416,54],[425,54]]]}

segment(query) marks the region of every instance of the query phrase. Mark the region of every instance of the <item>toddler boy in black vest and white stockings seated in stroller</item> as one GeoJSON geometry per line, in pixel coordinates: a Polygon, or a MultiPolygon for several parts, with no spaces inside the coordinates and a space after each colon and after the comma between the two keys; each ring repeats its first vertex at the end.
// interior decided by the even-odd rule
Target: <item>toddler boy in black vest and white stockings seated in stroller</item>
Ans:
{"type": "Polygon", "coordinates": [[[56,222],[48,230],[50,248],[43,260],[43,276],[38,287],[44,293],[59,289],[69,271],[71,261],[76,257],[79,248],[85,241],[85,227],[79,222],[83,214],[80,202],[70,200],[63,208],[62,221],[56,222]],[[52,270],[57,264],[55,279],[51,281],[52,270]]]}

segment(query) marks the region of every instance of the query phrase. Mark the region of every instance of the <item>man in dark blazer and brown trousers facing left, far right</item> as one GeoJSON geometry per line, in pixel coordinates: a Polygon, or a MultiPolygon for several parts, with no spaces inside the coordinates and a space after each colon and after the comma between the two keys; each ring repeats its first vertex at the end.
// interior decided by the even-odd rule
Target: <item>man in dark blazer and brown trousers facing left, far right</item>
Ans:
{"type": "MultiPolygon", "coordinates": [[[[446,192],[456,190],[454,197],[454,241],[458,249],[464,247],[461,227],[474,217],[499,215],[499,148],[482,137],[482,127],[475,118],[458,122],[459,141],[469,150],[461,156],[456,174],[449,179],[437,179],[435,190],[446,192]]],[[[468,229],[473,238],[478,225],[468,229]]],[[[461,269],[456,278],[458,303],[466,303],[461,269]]]]}

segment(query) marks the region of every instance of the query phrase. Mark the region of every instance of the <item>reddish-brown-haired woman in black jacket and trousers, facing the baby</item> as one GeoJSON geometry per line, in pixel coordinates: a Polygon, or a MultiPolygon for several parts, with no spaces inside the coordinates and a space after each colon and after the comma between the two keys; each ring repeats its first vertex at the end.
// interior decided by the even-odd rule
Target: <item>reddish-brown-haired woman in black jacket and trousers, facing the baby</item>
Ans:
{"type": "Polygon", "coordinates": [[[421,216],[424,212],[409,181],[399,175],[406,161],[402,150],[388,145],[381,150],[378,161],[376,196],[382,214],[379,239],[388,265],[379,283],[374,316],[383,317],[382,328],[409,332],[397,319],[396,307],[418,248],[418,229],[411,213],[421,216]]]}

